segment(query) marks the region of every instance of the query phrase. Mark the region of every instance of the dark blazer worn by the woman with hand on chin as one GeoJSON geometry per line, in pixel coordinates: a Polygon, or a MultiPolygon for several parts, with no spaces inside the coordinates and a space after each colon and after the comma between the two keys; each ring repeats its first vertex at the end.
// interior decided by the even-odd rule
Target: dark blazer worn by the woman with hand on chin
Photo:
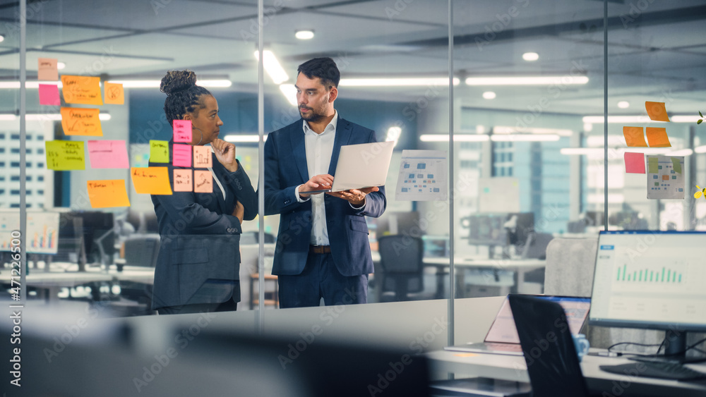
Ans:
{"type": "MultiPolygon", "coordinates": [[[[169,142],[169,181],[174,188],[174,169],[189,169],[172,165],[169,142]]],[[[152,309],[193,303],[218,303],[229,298],[213,298],[199,287],[208,279],[238,280],[240,270],[240,222],[232,216],[235,202],[245,207],[244,219],[257,215],[257,196],[247,173],[238,164],[230,172],[213,157],[213,172],[226,190],[213,181],[213,193],[173,192],[172,195],[152,195],[160,228],[160,253],[155,268],[152,309]]],[[[226,283],[232,286],[233,283],[226,283]]],[[[231,293],[234,288],[231,288],[231,293]]],[[[237,290],[239,291],[239,290],[237,290]]],[[[222,295],[222,290],[220,291],[222,295]]],[[[235,297],[239,300],[239,296],[235,297]]]]}

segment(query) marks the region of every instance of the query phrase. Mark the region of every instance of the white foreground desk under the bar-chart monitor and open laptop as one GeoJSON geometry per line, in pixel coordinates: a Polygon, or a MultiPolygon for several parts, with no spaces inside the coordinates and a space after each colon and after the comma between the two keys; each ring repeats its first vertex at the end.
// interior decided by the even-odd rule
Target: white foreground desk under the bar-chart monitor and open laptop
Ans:
{"type": "MultiPolygon", "coordinates": [[[[593,350],[593,349],[592,349],[593,350]]],[[[513,355],[462,353],[437,350],[427,353],[432,373],[452,372],[459,377],[489,377],[510,381],[530,381],[527,376],[525,358],[513,355]]],[[[599,365],[616,365],[631,362],[626,358],[607,358],[587,355],[581,369],[588,389],[592,393],[606,396],[700,396],[706,395],[706,381],[671,381],[664,379],[628,377],[611,374],[599,369],[599,365]],[[615,389],[614,389],[615,388],[615,389]]],[[[693,369],[706,372],[706,363],[690,364],[693,369]]]]}

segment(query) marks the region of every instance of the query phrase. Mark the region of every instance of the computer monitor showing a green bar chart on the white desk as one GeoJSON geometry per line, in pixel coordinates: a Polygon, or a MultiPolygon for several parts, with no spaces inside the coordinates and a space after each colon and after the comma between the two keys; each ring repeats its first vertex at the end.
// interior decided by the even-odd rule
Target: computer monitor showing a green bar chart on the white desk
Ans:
{"type": "Polygon", "coordinates": [[[706,332],[704,247],[706,232],[601,231],[589,324],[664,330],[683,359],[686,333],[706,332]]]}

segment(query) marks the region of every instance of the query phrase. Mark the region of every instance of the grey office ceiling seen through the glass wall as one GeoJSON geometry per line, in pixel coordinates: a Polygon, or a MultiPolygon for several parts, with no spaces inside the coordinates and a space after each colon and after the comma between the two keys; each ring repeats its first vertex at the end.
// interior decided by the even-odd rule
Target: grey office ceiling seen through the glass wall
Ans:
{"type": "MultiPolygon", "coordinates": [[[[37,58],[58,58],[65,74],[113,80],[159,79],[172,68],[201,78],[227,78],[228,90],[256,91],[256,0],[28,1],[28,79],[37,58]]],[[[609,111],[636,114],[640,102],[667,96],[668,110],[706,110],[706,1],[610,1],[609,111]],[[632,102],[618,109],[620,100],[632,102]]],[[[19,68],[18,2],[0,0],[0,80],[19,68]]],[[[295,78],[302,61],[337,59],[345,78],[448,75],[448,10],[437,0],[266,0],[265,46],[295,78]],[[313,29],[298,40],[294,31],[313,29]]],[[[486,75],[569,75],[587,85],[455,89],[464,106],[527,111],[549,97],[544,111],[602,114],[603,3],[597,0],[455,0],[453,66],[461,78],[486,75]],[[514,7],[514,8],[513,8],[514,7]],[[514,15],[511,15],[514,14],[514,15]],[[522,60],[526,51],[539,60],[522,60]],[[496,92],[486,100],[481,93],[496,92]]],[[[277,86],[265,76],[268,93],[277,86]]],[[[429,87],[347,87],[341,97],[415,102],[429,87]]],[[[438,94],[445,95],[444,87],[438,94]]],[[[6,96],[7,97],[7,96],[6,96]]],[[[0,99],[0,111],[16,101],[0,99]]]]}

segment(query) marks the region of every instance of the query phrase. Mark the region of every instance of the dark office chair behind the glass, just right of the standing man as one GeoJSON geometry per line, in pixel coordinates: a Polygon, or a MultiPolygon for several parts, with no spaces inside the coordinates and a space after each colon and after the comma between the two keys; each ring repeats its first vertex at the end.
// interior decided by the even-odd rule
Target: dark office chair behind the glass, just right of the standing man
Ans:
{"type": "Polygon", "coordinates": [[[424,242],[411,236],[383,236],[378,238],[380,252],[381,299],[385,292],[393,292],[394,300],[409,300],[409,293],[424,289],[424,242]]]}

